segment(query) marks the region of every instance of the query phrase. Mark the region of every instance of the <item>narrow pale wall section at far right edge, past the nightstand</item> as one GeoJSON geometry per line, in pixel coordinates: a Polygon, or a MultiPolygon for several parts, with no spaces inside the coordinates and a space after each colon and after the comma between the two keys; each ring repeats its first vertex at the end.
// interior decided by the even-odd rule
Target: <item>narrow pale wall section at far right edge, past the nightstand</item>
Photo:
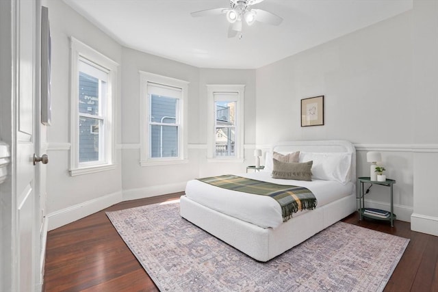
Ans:
{"type": "Polygon", "coordinates": [[[414,1],[414,204],[412,230],[438,236],[438,1],[414,1]]]}

